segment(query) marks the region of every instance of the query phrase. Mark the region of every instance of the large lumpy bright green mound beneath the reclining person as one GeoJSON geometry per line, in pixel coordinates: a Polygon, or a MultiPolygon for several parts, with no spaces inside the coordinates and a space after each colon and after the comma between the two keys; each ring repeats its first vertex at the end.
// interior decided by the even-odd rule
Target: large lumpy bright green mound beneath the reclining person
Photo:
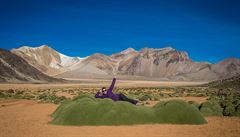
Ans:
{"type": "Polygon", "coordinates": [[[79,96],[62,103],[52,114],[57,125],[204,124],[197,108],[181,100],[160,102],[154,107],[79,96]]]}

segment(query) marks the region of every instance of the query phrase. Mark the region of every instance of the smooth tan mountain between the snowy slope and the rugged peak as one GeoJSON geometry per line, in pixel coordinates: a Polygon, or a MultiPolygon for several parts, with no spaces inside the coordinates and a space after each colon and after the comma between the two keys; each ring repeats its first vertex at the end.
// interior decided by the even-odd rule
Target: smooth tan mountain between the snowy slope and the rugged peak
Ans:
{"type": "Polygon", "coordinates": [[[63,78],[81,78],[81,77],[96,77],[106,75],[118,75],[120,70],[124,69],[129,60],[137,54],[132,48],[126,49],[120,53],[106,56],[96,53],[82,60],[81,63],[75,65],[73,70],[66,71],[58,77],[63,78]]]}

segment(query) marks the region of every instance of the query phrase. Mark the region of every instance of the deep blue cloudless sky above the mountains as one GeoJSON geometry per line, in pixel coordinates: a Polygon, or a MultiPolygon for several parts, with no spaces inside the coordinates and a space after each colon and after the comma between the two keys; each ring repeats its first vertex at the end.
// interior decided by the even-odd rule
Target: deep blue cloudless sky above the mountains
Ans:
{"type": "Polygon", "coordinates": [[[171,46],[194,61],[240,58],[239,0],[0,0],[0,48],[68,56],[171,46]]]}

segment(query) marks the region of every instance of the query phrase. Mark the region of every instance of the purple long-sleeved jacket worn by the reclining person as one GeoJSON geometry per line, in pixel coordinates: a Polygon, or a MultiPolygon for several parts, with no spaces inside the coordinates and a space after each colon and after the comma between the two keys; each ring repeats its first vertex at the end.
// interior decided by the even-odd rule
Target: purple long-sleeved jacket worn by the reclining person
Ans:
{"type": "Polygon", "coordinates": [[[97,94],[95,95],[95,98],[111,98],[113,101],[118,101],[119,100],[119,94],[114,94],[112,92],[115,83],[116,83],[116,78],[113,78],[112,84],[107,90],[107,94],[101,96],[100,92],[97,92],[97,94]]]}

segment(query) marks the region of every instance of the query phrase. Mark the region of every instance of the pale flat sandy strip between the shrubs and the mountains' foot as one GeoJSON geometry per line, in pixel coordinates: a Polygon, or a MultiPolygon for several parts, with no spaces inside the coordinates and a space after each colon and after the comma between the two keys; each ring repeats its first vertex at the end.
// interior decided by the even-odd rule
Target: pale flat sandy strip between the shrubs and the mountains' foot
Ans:
{"type": "MultiPolygon", "coordinates": [[[[168,86],[193,86],[205,82],[167,82],[167,81],[136,81],[118,80],[116,87],[168,87],[168,86]]],[[[110,80],[82,80],[79,83],[63,84],[0,84],[0,89],[54,89],[54,88],[82,88],[82,87],[108,87],[110,80]]]]}

